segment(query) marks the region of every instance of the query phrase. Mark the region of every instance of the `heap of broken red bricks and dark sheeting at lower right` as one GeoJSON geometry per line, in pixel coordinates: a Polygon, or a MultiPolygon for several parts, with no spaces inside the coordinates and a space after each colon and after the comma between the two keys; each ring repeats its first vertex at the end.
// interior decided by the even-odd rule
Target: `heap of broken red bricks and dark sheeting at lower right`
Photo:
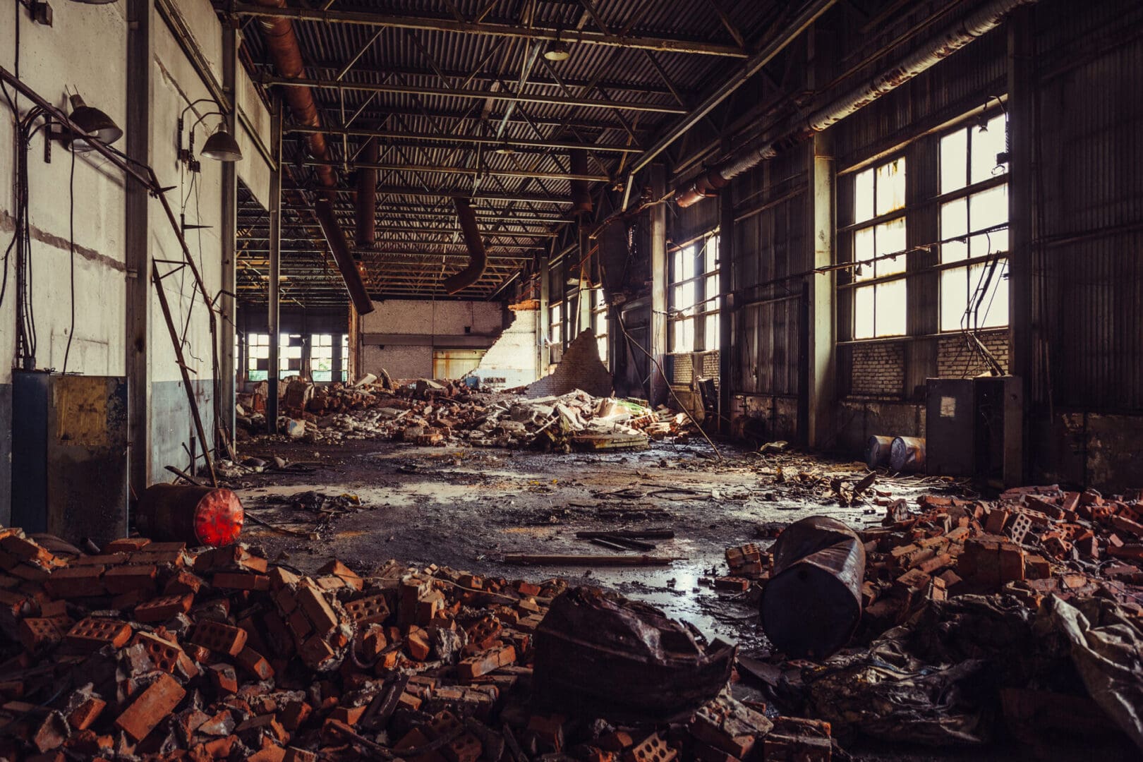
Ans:
{"type": "MultiPolygon", "coordinates": [[[[775,648],[753,664],[784,711],[829,721],[844,737],[960,745],[993,737],[990,717],[1002,708],[1012,735],[1048,756],[1062,736],[1077,735],[1143,749],[1140,495],[1050,486],[988,502],[926,495],[919,513],[905,500],[884,503],[882,527],[840,526],[852,547],[840,534],[812,547],[794,540],[808,553],[829,548],[810,571],[831,578],[789,616],[800,623],[793,626],[814,623],[804,641],[833,644],[808,659],[775,648]],[[830,586],[860,600],[829,595],[830,586]],[[834,640],[821,632],[830,627],[839,631],[834,640]]],[[[778,537],[796,528],[804,538],[814,522],[818,531],[837,528],[818,516],[778,537]]],[[[767,586],[789,573],[789,558],[775,564],[789,547],[730,547],[730,573],[713,580],[736,593],[762,587],[762,624],[774,642],[791,625],[778,620],[772,632],[767,586]]]]}

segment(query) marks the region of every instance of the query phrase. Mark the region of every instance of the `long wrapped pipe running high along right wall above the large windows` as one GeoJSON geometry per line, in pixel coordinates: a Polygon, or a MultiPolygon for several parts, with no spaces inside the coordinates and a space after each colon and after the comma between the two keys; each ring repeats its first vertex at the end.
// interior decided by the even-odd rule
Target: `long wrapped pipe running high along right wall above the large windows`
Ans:
{"type": "Polygon", "coordinates": [[[932,69],[937,62],[948,58],[973,40],[999,26],[1005,16],[1020,6],[1030,6],[1037,0],[992,0],[976,11],[969,14],[941,34],[933,38],[928,45],[917,50],[897,65],[888,69],[865,85],[833,101],[823,109],[809,114],[794,129],[781,137],[762,143],[748,144],[730,154],[722,162],[711,167],[700,175],[685,191],[676,195],[676,203],[689,207],[702,199],[711,198],[718,190],[748,169],[773,159],[815,133],[821,133],[846,117],[861,111],[872,102],[887,95],[914,77],[932,69]]]}

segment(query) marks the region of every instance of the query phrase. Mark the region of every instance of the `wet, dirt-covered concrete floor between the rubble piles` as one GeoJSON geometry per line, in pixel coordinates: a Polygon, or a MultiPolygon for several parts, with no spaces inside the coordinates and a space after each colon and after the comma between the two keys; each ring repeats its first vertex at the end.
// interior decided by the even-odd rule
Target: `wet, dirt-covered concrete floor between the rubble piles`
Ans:
{"type": "MultiPolygon", "coordinates": [[[[650,602],[708,637],[719,636],[750,652],[765,647],[757,602],[700,583],[727,573],[726,548],[752,540],[768,546],[772,540],[758,531],[767,522],[824,513],[862,527],[878,524],[884,508],[868,499],[841,507],[832,497],[828,482],[856,481],[866,473],[864,464],[793,454],[760,456],[729,446],[721,450],[722,462],[705,442],[614,455],[389,442],[278,443],[247,451],[313,463],[312,473],[267,472],[231,486],[251,519],[301,532],[314,531],[313,514],[282,500],[311,490],[360,499],[361,511],[337,516],[318,531],[318,539],[247,522],[243,539],[264,546],[271,558],[285,553],[288,563],[304,571],[336,556],[360,572],[398,559],[510,579],[582,579],[650,602]],[[778,468],[783,483],[775,483],[778,468]],[[799,473],[821,481],[804,483],[799,473]],[[684,560],[637,568],[520,567],[502,561],[505,553],[616,554],[577,539],[575,532],[649,527],[676,532],[674,539],[656,540],[654,555],[684,560]]],[[[933,486],[919,478],[879,481],[874,488],[906,498],[933,486]]]]}

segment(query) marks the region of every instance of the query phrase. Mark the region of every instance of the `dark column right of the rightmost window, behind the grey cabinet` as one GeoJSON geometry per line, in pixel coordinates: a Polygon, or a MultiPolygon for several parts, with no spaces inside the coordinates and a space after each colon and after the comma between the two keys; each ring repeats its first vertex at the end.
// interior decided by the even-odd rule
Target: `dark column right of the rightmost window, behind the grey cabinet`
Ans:
{"type": "MultiPolygon", "coordinates": [[[[1005,454],[1005,463],[1018,463],[1021,473],[1010,483],[1026,484],[1033,458],[1029,408],[1032,406],[1032,377],[1036,372],[1036,340],[1032,313],[1033,231],[1036,208],[1036,154],[1033,152],[1038,114],[1036,88],[1034,25],[1032,8],[1017,8],[1008,17],[1008,356],[1010,372],[1021,378],[1024,394],[1024,431],[1021,452],[1005,454]]],[[[1016,470],[1014,465],[1013,470],[1016,470]]],[[[1009,474],[1005,473],[1009,483],[1009,474]]]]}

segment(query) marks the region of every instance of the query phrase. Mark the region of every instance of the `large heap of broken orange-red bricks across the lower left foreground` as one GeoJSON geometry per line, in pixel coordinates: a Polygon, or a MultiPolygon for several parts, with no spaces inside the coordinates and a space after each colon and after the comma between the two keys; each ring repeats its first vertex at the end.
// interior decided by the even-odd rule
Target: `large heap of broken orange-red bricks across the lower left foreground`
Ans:
{"type": "Polygon", "coordinates": [[[831,754],[828,724],[768,719],[765,706],[729,696],[733,647],[708,648],[650,607],[593,588],[568,591],[560,580],[395,562],[362,577],[337,561],[309,577],[245,545],[194,551],[130,538],[85,555],[18,529],[0,530],[0,759],[669,762],[743,759],[752,749],[767,760],[831,754]],[[567,633],[544,628],[555,609],[557,620],[609,617],[589,627],[580,649],[592,631],[604,642],[624,626],[658,627],[662,637],[573,657],[561,640],[567,633]],[[546,653],[546,677],[537,653],[546,653]],[[593,674],[582,660],[590,658],[622,661],[612,696],[620,707],[640,696],[629,681],[646,668],[665,684],[690,685],[678,696],[692,703],[673,723],[633,722],[622,713],[600,716],[591,704],[569,711],[555,691],[533,690],[585,675],[594,681],[585,689],[598,689],[608,675],[593,674]],[[696,663],[710,668],[692,680],[696,663]]]}

